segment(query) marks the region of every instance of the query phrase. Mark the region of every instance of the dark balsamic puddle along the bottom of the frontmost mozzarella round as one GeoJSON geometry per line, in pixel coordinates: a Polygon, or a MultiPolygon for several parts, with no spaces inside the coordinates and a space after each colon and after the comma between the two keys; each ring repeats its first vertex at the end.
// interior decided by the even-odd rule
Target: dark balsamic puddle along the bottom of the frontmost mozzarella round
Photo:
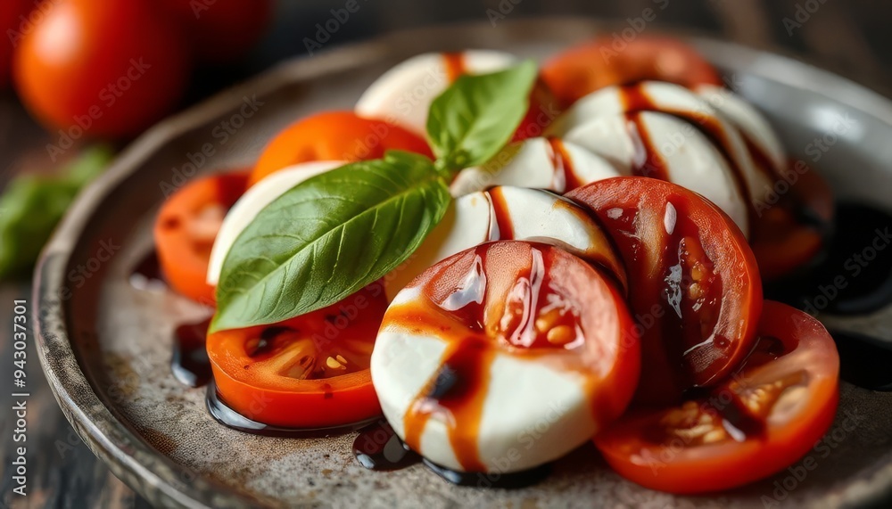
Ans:
{"type": "Polygon", "coordinates": [[[457,472],[418,456],[384,419],[359,431],[353,440],[353,456],[362,466],[378,472],[400,470],[420,462],[442,480],[475,488],[525,488],[544,480],[551,472],[550,464],[524,472],[457,472]]]}

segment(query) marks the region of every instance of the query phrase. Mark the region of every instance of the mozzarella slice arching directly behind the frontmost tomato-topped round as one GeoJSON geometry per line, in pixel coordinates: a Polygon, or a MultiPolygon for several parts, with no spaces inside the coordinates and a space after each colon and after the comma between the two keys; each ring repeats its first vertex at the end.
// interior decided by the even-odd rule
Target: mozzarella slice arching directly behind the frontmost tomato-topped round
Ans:
{"type": "Polygon", "coordinates": [[[466,194],[450,204],[439,225],[385,279],[393,299],[438,261],[481,242],[527,240],[557,245],[605,267],[625,283],[622,263],[597,223],[573,202],[539,189],[500,186],[466,194]]]}

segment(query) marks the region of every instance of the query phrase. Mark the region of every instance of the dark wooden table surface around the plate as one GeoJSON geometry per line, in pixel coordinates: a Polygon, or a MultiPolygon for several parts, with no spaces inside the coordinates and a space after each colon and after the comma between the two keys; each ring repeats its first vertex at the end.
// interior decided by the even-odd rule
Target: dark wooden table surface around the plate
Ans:
{"type": "MultiPolygon", "coordinates": [[[[414,0],[380,0],[362,4],[356,21],[345,23],[329,44],[373,37],[376,33],[438,22],[487,21],[488,9],[496,12],[514,5],[506,18],[542,15],[588,15],[615,18],[621,28],[648,7],[665,5],[648,27],[687,28],[744,45],[781,48],[805,60],[834,70],[880,93],[892,96],[892,30],[888,20],[892,3],[881,0],[491,0],[430,5],[414,0]]],[[[191,100],[293,55],[305,53],[303,37],[312,37],[315,24],[330,17],[334,4],[321,0],[282,4],[269,37],[252,64],[235,71],[199,79],[191,100]],[[219,79],[222,76],[224,79],[219,79]]],[[[335,3],[335,7],[340,3],[335,3]]],[[[51,171],[59,161],[49,159],[45,144],[50,136],[31,121],[10,93],[0,95],[0,185],[21,171],[51,171]]],[[[2,211],[0,211],[2,213],[2,211]]],[[[4,378],[11,378],[12,300],[27,299],[28,282],[0,285],[0,364],[4,378]]],[[[0,390],[0,508],[5,507],[146,507],[78,439],[56,406],[47,386],[29,334],[28,349],[29,434],[28,497],[12,494],[13,420],[8,410],[11,390],[0,390]]],[[[12,387],[11,380],[0,385],[12,387]]],[[[19,445],[19,444],[16,444],[19,445]]]]}

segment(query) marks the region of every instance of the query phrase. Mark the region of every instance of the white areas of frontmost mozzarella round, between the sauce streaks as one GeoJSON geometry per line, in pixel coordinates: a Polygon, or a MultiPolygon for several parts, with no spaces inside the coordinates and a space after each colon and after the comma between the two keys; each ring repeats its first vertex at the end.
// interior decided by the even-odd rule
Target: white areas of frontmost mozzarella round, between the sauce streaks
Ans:
{"type": "MultiPolygon", "coordinates": [[[[418,299],[417,290],[402,292],[401,301],[418,299]]],[[[371,357],[372,382],[384,417],[398,436],[406,436],[409,406],[436,376],[447,345],[442,338],[399,326],[385,325],[378,332],[371,357]]],[[[580,374],[507,352],[495,356],[476,437],[478,456],[488,472],[516,472],[548,463],[598,431],[580,374]]],[[[427,421],[420,442],[422,456],[452,470],[465,470],[450,443],[447,423],[427,421]]]]}

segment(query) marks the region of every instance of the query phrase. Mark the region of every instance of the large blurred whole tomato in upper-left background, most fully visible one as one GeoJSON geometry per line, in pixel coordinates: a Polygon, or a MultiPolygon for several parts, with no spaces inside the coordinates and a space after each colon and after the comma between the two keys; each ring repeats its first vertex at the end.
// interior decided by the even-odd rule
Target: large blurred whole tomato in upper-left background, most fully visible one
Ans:
{"type": "Polygon", "coordinates": [[[176,106],[188,77],[182,47],[144,0],[59,0],[15,48],[16,90],[47,127],[136,135],[176,106]]]}

